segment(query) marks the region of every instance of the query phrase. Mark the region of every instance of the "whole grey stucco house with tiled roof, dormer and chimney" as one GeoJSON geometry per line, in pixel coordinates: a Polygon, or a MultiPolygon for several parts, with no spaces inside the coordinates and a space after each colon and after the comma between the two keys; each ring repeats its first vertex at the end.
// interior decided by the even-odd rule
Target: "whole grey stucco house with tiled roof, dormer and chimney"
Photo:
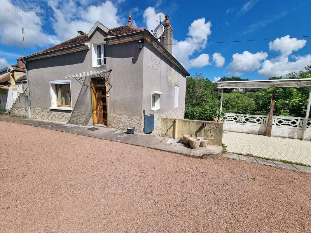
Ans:
{"type": "Polygon", "coordinates": [[[127,25],[112,29],[97,21],[88,34],[79,31],[73,39],[22,58],[31,117],[134,126],[142,132],[145,112],[148,126],[154,123],[153,134],[159,135],[161,117],[184,118],[189,75],[172,56],[169,16],[164,27],[159,41],[147,28],[132,26],[131,16],[127,25]]]}

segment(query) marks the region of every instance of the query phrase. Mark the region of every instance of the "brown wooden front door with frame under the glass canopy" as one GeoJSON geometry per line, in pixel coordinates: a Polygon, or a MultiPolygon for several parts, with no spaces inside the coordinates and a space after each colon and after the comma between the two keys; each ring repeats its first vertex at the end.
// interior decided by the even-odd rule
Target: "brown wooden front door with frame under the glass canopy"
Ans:
{"type": "Polygon", "coordinates": [[[91,79],[92,102],[93,102],[93,123],[108,124],[108,99],[107,83],[104,80],[91,79]]]}

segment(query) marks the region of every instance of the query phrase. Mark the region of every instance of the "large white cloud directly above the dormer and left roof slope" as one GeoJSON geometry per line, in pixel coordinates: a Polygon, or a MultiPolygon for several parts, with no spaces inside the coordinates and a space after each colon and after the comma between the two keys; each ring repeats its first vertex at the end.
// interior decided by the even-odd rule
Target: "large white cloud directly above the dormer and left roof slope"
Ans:
{"type": "Polygon", "coordinates": [[[121,25],[118,9],[108,0],[88,7],[77,7],[71,0],[50,0],[48,5],[54,12],[53,29],[62,41],[77,36],[79,30],[88,33],[97,20],[108,28],[121,25]]]}

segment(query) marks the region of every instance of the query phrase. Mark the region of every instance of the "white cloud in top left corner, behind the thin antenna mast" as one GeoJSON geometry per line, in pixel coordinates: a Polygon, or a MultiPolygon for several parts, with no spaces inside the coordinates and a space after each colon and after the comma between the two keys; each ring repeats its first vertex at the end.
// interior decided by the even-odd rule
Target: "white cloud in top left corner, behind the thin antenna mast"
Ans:
{"type": "MultiPolygon", "coordinates": [[[[37,7],[38,8],[38,7],[37,7]]],[[[12,12],[20,9],[20,6],[13,5],[10,0],[3,0],[0,6],[0,34],[1,43],[5,45],[23,46],[21,27],[25,28],[25,44],[33,47],[40,47],[58,43],[54,35],[46,34],[43,30],[43,21],[35,12],[12,12]],[[9,12],[7,12],[9,10],[9,12]]]]}

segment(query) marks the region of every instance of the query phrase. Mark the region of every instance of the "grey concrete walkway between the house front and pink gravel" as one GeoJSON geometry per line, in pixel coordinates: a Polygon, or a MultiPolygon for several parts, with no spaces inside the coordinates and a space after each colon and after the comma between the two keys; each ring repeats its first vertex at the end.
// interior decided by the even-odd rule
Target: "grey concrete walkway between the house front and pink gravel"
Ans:
{"type": "Polygon", "coordinates": [[[197,158],[217,158],[222,155],[222,147],[216,145],[206,145],[196,150],[191,149],[189,145],[165,143],[169,138],[154,136],[143,133],[127,134],[124,130],[110,129],[100,126],[75,125],[59,121],[46,121],[40,119],[29,119],[21,117],[12,117],[7,114],[0,114],[0,121],[9,121],[24,125],[37,126],[45,129],[58,130],[67,133],[90,136],[100,139],[106,139],[116,142],[122,142],[137,146],[144,146],[151,149],[163,150],[179,153],[197,158]]]}

